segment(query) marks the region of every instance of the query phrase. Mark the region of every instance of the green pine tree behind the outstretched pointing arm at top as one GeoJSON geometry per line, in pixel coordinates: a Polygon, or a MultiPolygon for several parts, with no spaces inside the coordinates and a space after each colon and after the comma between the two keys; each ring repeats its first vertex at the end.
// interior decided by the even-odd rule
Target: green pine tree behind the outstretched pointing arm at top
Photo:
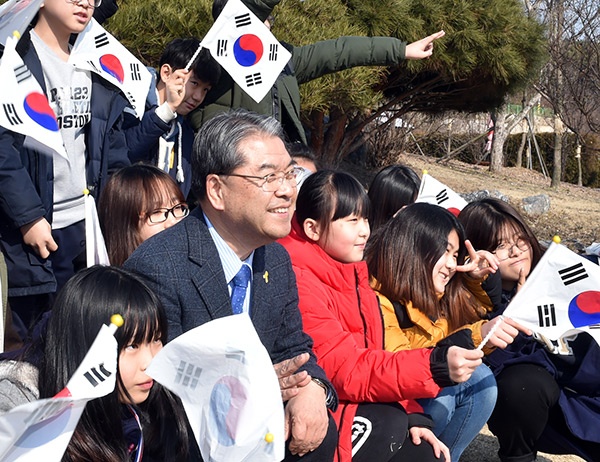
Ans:
{"type": "MultiPolygon", "coordinates": [[[[211,0],[128,0],[107,28],[147,64],[175,37],[202,37],[211,0]]],[[[542,26],[520,0],[283,0],[273,33],[293,45],[342,35],[392,36],[406,42],[440,29],[434,55],[393,68],[362,67],[302,85],[310,143],[337,163],[362,141],[383,111],[487,111],[522,88],[545,58],[542,26]]]]}

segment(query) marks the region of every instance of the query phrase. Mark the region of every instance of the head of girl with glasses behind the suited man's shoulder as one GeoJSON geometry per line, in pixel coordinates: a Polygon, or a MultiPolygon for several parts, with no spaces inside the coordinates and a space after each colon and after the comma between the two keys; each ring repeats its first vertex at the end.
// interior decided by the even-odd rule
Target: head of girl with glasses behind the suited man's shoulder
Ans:
{"type": "Polygon", "coordinates": [[[183,193],[168,173],[148,164],[118,170],[98,203],[111,264],[121,266],[142,242],[188,214],[183,193]]]}

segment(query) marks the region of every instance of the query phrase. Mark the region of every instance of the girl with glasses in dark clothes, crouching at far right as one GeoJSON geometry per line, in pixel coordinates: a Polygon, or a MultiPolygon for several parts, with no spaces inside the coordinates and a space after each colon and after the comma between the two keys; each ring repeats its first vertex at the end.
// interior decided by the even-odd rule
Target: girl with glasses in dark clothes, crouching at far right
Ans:
{"type": "MultiPolygon", "coordinates": [[[[501,314],[542,256],[519,212],[498,199],[471,202],[460,213],[466,236],[499,260],[502,293],[490,297],[501,314]]],[[[497,405],[488,421],[503,462],[529,462],[537,451],[600,460],[600,347],[586,333],[566,340],[570,355],[549,353],[519,334],[486,361],[496,376],[497,405]]]]}

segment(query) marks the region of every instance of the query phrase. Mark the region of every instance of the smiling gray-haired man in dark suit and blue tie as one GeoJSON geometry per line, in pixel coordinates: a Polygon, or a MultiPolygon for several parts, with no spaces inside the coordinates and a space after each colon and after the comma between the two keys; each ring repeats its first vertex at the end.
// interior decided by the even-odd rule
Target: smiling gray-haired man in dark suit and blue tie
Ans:
{"type": "Polygon", "coordinates": [[[232,313],[249,315],[280,377],[285,460],[321,462],[333,459],[337,431],[327,405],[336,406],[337,396],[302,330],[289,256],[274,242],[290,232],[297,171],[275,119],[243,110],[211,119],[192,153],[199,207],[140,245],[125,267],[146,276],[161,298],[170,339],[232,313]],[[251,283],[240,289],[244,271],[251,283]]]}

